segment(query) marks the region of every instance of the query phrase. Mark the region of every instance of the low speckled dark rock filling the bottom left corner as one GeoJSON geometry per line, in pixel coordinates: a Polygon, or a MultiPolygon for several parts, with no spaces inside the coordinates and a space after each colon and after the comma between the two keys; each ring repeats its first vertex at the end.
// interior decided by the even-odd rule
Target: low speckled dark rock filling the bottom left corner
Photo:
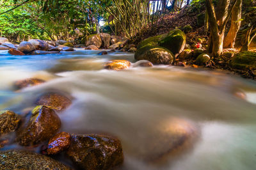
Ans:
{"type": "Polygon", "coordinates": [[[71,169],[45,155],[29,151],[0,151],[0,169],[71,169]]]}

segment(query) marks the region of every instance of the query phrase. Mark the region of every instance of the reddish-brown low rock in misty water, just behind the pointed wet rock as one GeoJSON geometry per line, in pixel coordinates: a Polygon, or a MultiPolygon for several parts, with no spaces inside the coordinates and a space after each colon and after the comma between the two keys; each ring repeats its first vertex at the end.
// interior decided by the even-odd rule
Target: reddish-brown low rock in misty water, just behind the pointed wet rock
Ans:
{"type": "Polygon", "coordinates": [[[40,96],[36,100],[36,105],[45,105],[47,107],[51,107],[52,109],[56,109],[57,111],[63,111],[70,104],[71,100],[59,93],[45,93],[40,96]]]}

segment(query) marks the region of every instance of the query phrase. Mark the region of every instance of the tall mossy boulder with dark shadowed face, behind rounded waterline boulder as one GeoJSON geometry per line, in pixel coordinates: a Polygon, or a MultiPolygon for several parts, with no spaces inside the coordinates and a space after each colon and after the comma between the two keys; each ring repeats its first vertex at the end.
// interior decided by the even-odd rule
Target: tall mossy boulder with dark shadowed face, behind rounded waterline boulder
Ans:
{"type": "Polygon", "coordinates": [[[175,56],[180,54],[186,45],[186,35],[180,29],[173,29],[163,40],[159,42],[161,47],[170,50],[175,56]]]}

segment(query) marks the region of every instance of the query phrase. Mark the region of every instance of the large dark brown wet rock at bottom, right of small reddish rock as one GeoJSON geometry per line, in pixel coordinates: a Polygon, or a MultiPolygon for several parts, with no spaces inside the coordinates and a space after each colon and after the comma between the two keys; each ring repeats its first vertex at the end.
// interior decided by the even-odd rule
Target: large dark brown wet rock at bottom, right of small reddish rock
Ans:
{"type": "Polygon", "coordinates": [[[71,135],[68,157],[81,169],[113,169],[124,162],[121,143],[106,135],[71,135]]]}

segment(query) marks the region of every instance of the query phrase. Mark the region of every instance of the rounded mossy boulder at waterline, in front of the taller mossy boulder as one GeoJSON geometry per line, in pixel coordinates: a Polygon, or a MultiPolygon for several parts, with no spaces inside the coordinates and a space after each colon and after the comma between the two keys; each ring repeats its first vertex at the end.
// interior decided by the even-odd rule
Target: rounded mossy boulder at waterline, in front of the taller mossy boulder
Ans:
{"type": "Polygon", "coordinates": [[[134,58],[137,60],[148,60],[154,65],[171,65],[175,60],[172,52],[168,49],[148,45],[138,49],[134,58]]]}

